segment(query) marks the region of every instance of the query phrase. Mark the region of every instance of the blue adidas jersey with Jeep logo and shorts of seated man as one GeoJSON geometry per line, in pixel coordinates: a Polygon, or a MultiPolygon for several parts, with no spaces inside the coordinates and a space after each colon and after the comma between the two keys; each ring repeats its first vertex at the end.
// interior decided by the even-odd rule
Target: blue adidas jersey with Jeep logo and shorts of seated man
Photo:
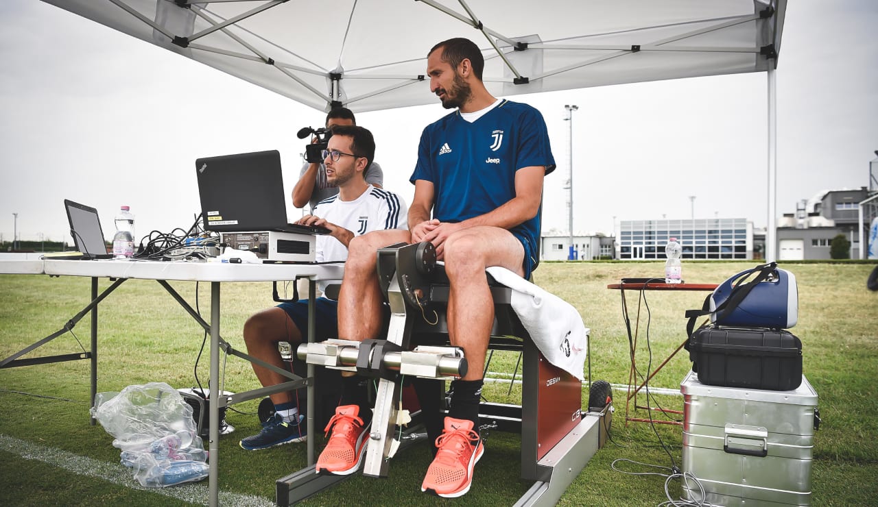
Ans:
{"type": "MultiPolygon", "coordinates": [[[[555,169],[543,115],[528,104],[503,100],[473,123],[455,111],[428,125],[410,181],[433,183],[433,218],[461,222],[515,197],[515,172],[530,166],[545,166],[547,175],[555,169]]],[[[536,255],[539,229],[539,212],[510,229],[526,256],[536,255]]],[[[536,259],[525,259],[525,271],[534,264],[536,259]]]]}

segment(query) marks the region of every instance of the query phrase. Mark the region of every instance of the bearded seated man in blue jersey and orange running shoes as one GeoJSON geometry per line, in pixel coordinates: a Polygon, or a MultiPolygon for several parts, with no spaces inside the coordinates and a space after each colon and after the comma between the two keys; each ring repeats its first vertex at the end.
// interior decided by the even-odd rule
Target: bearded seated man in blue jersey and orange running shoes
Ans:
{"type": "MultiPolygon", "coordinates": [[[[450,281],[450,340],[464,348],[470,368],[452,382],[449,417],[421,490],[456,497],[469,491],[473,466],[484,453],[479,438],[479,365],[485,363],[493,324],[485,269],[500,266],[529,277],[538,255],[543,176],[555,168],[555,161],[539,111],[494,98],[485,88],[485,60],[478,46],[468,39],[445,40],[430,50],[427,65],[430,91],[445,108],[457,111],[421,134],[410,179],[414,201],[408,210],[409,231],[371,232],[350,242],[338,331],[340,338],[356,340],[376,338],[380,332],[378,248],[399,242],[435,245],[450,281]]],[[[356,375],[348,376],[343,389],[357,389],[357,382],[356,375]]],[[[339,423],[320,455],[318,470],[356,471],[368,434],[368,412],[362,402],[337,409],[339,423]]]]}

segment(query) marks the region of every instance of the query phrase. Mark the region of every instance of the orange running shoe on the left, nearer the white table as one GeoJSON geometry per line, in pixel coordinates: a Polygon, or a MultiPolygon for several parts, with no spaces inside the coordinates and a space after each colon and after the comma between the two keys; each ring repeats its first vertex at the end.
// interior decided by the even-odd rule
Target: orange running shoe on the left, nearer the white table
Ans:
{"type": "Polygon", "coordinates": [[[332,436],[317,459],[318,474],[350,475],[360,468],[366,453],[369,425],[363,426],[363,419],[357,417],[359,413],[357,405],[335,408],[335,416],[323,430],[328,434],[332,428],[332,436]]]}

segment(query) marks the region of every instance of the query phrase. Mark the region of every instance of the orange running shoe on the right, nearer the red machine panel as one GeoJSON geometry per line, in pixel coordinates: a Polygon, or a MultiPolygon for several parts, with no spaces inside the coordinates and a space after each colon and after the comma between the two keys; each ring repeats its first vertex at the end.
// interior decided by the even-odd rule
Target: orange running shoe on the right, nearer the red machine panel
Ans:
{"type": "Polygon", "coordinates": [[[464,496],[472,484],[472,468],[485,453],[479,433],[472,431],[472,421],[445,418],[445,429],[436,439],[436,446],[439,450],[427,469],[421,491],[443,498],[464,496]]]}

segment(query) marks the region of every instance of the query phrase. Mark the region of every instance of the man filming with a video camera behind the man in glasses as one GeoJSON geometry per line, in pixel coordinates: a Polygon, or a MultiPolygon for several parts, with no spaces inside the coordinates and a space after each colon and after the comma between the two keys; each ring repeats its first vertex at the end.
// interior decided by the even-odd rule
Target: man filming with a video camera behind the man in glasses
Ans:
{"type": "MultiPolygon", "coordinates": [[[[302,129],[302,131],[317,133],[311,139],[311,142],[312,144],[318,144],[326,142],[329,136],[332,135],[332,128],[335,125],[356,125],[354,112],[345,107],[337,107],[329,111],[326,121],[327,132],[324,133],[325,137],[323,139],[320,138],[320,133],[323,132],[315,132],[312,129],[302,129]]],[[[299,133],[299,138],[304,137],[303,133],[301,133],[302,131],[299,133]]],[[[304,135],[307,135],[307,133],[304,135]]],[[[319,152],[320,150],[317,151],[319,152]]],[[[367,183],[378,189],[381,188],[384,181],[384,172],[382,172],[381,166],[377,163],[372,162],[366,168],[364,176],[367,183]]],[[[327,197],[335,196],[335,194],[338,194],[338,188],[331,186],[327,182],[327,170],[323,162],[306,162],[299,174],[299,182],[296,182],[296,186],[292,189],[292,205],[297,208],[304,208],[306,204],[309,204],[308,212],[312,213],[317,203],[320,203],[320,201],[327,197]]]]}

